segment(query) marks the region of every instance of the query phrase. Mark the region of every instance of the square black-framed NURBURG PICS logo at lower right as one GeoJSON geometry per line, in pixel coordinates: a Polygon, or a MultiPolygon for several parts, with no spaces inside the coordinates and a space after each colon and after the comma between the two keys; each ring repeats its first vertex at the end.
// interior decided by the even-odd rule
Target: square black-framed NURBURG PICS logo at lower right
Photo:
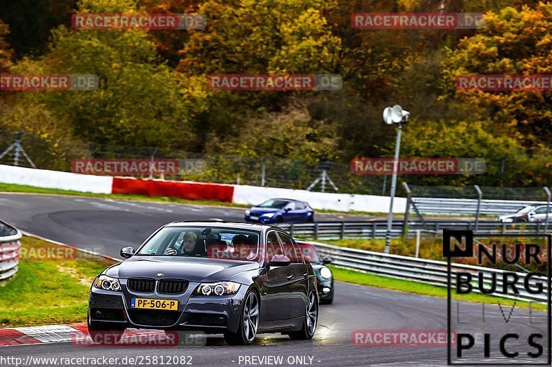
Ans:
{"type": "MultiPolygon", "coordinates": [[[[474,235],[473,231],[444,229],[443,257],[447,259],[447,362],[449,365],[549,366],[552,363],[551,248],[551,234],[474,235]],[[486,238],[486,240],[489,240],[489,237],[501,238],[505,243],[484,244],[476,237],[486,238]],[[526,241],[520,240],[522,238],[526,241]],[[537,238],[546,240],[547,244],[529,243],[530,241],[534,242],[537,238]],[[474,242],[477,242],[475,247],[474,242]],[[452,258],[459,258],[460,262],[471,258],[471,260],[477,260],[477,266],[454,264],[453,268],[452,258]],[[502,268],[482,267],[500,264],[499,261],[509,265],[506,269],[518,270],[507,271],[501,270],[502,268]],[[544,271],[544,267],[546,267],[546,271],[544,271]],[[535,271],[534,269],[540,270],[535,271]],[[495,312],[494,314],[498,316],[485,316],[485,304],[483,303],[481,318],[473,312],[475,304],[472,303],[469,308],[471,312],[468,311],[464,314],[467,319],[472,321],[465,322],[460,318],[460,302],[456,300],[456,315],[452,318],[451,295],[453,293],[466,295],[475,292],[510,298],[520,297],[522,294],[525,300],[531,298],[539,300],[538,302],[546,300],[546,331],[542,330],[544,322],[531,323],[531,303],[529,303],[529,317],[520,315],[527,311],[515,308],[516,302],[513,302],[511,308],[503,307],[500,304],[503,302],[501,299],[497,299],[498,308],[487,308],[491,310],[491,313],[500,311],[500,313],[495,312]],[[453,322],[455,323],[454,330],[451,328],[453,322]],[[462,324],[464,325],[461,326],[462,324]],[[462,328],[463,330],[460,330],[462,328]],[[466,331],[466,328],[473,328],[477,332],[466,331]],[[451,344],[453,333],[455,334],[455,343],[451,344]],[[455,351],[451,353],[453,347],[455,347],[455,351]]],[[[542,320],[544,317],[535,317],[535,319],[542,320]]]]}

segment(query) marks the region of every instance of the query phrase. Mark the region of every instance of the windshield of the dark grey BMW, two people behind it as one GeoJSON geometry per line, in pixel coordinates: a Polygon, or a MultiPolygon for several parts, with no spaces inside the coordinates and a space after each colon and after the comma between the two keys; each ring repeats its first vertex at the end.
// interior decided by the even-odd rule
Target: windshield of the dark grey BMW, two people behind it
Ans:
{"type": "Polygon", "coordinates": [[[257,261],[259,232],[213,227],[164,227],[137,255],[257,261]]]}

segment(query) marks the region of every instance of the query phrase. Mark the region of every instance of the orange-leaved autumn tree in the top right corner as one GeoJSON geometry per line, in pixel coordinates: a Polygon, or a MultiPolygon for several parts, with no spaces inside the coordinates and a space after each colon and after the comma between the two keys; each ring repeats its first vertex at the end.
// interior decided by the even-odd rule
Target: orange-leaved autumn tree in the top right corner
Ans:
{"type": "Polygon", "coordinates": [[[455,91],[462,74],[552,74],[552,4],[486,13],[485,27],[449,49],[443,62],[445,90],[489,116],[488,128],[511,134],[529,151],[552,144],[552,92],[455,91]]]}

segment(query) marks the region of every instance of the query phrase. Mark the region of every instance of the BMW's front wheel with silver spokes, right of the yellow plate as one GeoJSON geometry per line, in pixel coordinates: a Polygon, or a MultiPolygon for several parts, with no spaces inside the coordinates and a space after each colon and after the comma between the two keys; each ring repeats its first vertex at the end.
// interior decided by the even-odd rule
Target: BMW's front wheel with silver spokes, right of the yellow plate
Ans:
{"type": "Polygon", "coordinates": [[[231,346],[247,346],[253,343],[259,328],[259,296],[250,289],[244,297],[244,308],[239,317],[237,333],[226,331],[224,339],[231,346]]]}

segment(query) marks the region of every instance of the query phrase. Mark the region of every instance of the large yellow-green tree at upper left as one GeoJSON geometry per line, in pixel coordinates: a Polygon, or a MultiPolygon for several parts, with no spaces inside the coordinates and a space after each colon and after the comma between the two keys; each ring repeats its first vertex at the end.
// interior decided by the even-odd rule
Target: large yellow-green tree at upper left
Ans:
{"type": "MultiPolygon", "coordinates": [[[[132,0],[81,0],[80,12],[136,12],[132,0]]],[[[26,101],[66,121],[92,143],[177,147],[193,140],[186,94],[144,30],[52,32],[50,50],[17,67],[27,74],[95,74],[95,91],[25,92],[26,101]],[[32,103],[30,102],[32,100],[32,103]]],[[[6,117],[5,117],[6,118],[6,117]]],[[[27,120],[27,119],[24,119],[27,120]]],[[[31,123],[31,122],[28,122],[31,123]]],[[[26,125],[26,123],[22,123],[26,125]]]]}

